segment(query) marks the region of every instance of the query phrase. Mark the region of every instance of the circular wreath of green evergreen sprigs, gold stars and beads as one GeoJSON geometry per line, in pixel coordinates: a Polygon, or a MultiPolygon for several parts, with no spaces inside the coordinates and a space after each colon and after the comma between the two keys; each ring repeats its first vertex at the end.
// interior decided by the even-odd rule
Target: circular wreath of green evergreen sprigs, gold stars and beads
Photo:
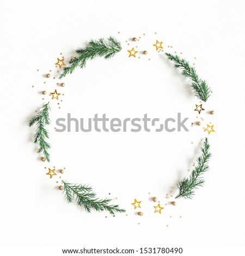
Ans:
{"type": "MultiPolygon", "coordinates": [[[[132,42],[136,42],[139,39],[132,38],[132,42]]],[[[153,45],[156,47],[156,51],[163,52],[163,46],[162,41],[156,40],[156,43],[153,45]]],[[[71,57],[69,60],[68,66],[64,63],[64,57],[59,59],[57,58],[56,66],[60,69],[62,69],[63,66],[65,68],[63,69],[62,74],[59,76],[59,79],[62,79],[63,77],[72,74],[74,70],[79,66],[80,68],[85,68],[85,65],[87,63],[87,60],[94,59],[95,57],[104,57],[105,59],[110,59],[115,54],[121,51],[121,44],[120,42],[115,39],[114,37],[110,36],[107,41],[104,39],[99,40],[90,40],[88,45],[84,48],[78,48],[76,50],[77,56],[71,57]]],[[[136,54],[138,51],[134,49],[134,47],[131,50],[127,50],[129,53],[128,57],[136,57],[136,54]]],[[[147,51],[142,51],[142,54],[148,54],[147,51]]],[[[175,52],[176,53],[176,52],[175,52]]],[[[209,86],[207,86],[207,83],[205,80],[202,80],[199,78],[197,71],[195,70],[194,66],[190,65],[187,60],[180,58],[177,54],[173,55],[171,53],[164,53],[166,57],[174,62],[174,66],[176,69],[181,69],[182,76],[188,77],[189,80],[191,80],[191,87],[193,89],[194,95],[198,97],[203,102],[206,102],[207,99],[210,97],[211,89],[209,86]]],[[[39,71],[39,70],[38,70],[39,71]]],[[[50,70],[51,71],[51,70],[50,70]]],[[[58,72],[58,71],[57,71],[58,72]]],[[[50,74],[46,74],[47,78],[50,78],[50,74]]],[[[58,83],[57,83],[58,84],[58,83]]],[[[60,86],[64,87],[64,83],[60,83],[60,86]]],[[[42,94],[46,94],[46,91],[43,91],[42,94]]],[[[52,99],[58,99],[58,96],[60,95],[57,93],[57,90],[54,91],[54,93],[50,93],[52,96],[52,99]]],[[[50,150],[51,146],[47,142],[48,131],[46,129],[46,126],[50,124],[49,119],[49,113],[50,113],[50,104],[49,102],[43,105],[40,108],[40,111],[38,114],[34,115],[34,117],[30,118],[29,120],[29,127],[36,125],[36,132],[34,135],[34,143],[38,144],[38,153],[42,153],[43,156],[41,157],[41,161],[50,162],[50,154],[48,151],[50,150]]],[[[200,112],[204,110],[202,104],[196,105],[195,111],[200,112]]],[[[36,111],[37,112],[37,111],[36,111]]],[[[213,111],[210,111],[210,114],[213,114],[213,111]]],[[[197,121],[197,125],[200,125],[200,122],[197,121]]],[[[193,124],[192,124],[193,125],[193,124]]],[[[207,128],[205,129],[209,134],[213,130],[213,125],[207,125],[207,128]]],[[[210,144],[207,138],[204,139],[203,147],[201,148],[201,156],[197,157],[197,165],[192,170],[191,174],[183,178],[179,181],[177,184],[177,188],[179,189],[179,193],[175,198],[192,198],[194,195],[194,191],[196,188],[203,186],[204,179],[203,174],[209,169],[209,160],[211,157],[210,153],[210,144]]],[[[64,173],[64,169],[60,169],[59,172],[61,174],[64,173]]],[[[50,178],[53,177],[53,175],[57,175],[56,169],[48,168],[47,175],[50,175],[50,178]]],[[[112,199],[105,198],[105,199],[99,199],[96,197],[96,194],[93,192],[93,188],[87,185],[81,185],[81,184],[71,184],[69,182],[66,182],[62,180],[62,185],[58,186],[58,189],[63,191],[65,195],[65,199],[68,203],[71,203],[72,201],[76,201],[76,203],[79,206],[82,206],[85,211],[91,212],[92,209],[95,211],[108,211],[110,214],[115,214],[116,212],[125,212],[124,209],[121,209],[119,205],[113,205],[111,204],[112,199]]],[[[172,190],[174,187],[172,187],[172,190]]],[[[170,191],[171,192],[171,191],[170,191]]],[[[168,197],[167,197],[168,198],[168,197]]],[[[152,200],[154,202],[157,201],[156,197],[153,197],[152,200]]],[[[134,209],[140,208],[140,201],[137,201],[137,199],[134,199],[134,202],[132,205],[134,206],[134,209]]],[[[170,202],[172,205],[176,205],[176,202],[170,202]]],[[[155,212],[159,212],[161,214],[161,210],[163,209],[160,204],[157,206],[154,206],[155,212]]],[[[138,212],[138,215],[143,215],[142,212],[138,212]]]]}

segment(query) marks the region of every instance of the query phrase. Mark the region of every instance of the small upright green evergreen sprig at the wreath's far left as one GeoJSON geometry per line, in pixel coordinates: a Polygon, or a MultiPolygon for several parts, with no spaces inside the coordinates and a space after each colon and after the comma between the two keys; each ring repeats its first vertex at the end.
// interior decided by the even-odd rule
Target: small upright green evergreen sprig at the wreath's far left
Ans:
{"type": "Polygon", "coordinates": [[[45,159],[50,162],[50,154],[48,149],[51,148],[50,144],[46,142],[48,139],[48,131],[45,126],[50,124],[50,118],[48,117],[50,111],[49,102],[40,108],[40,112],[29,120],[29,127],[36,124],[36,133],[34,135],[34,143],[39,144],[38,153],[43,152],[45,159]]]}

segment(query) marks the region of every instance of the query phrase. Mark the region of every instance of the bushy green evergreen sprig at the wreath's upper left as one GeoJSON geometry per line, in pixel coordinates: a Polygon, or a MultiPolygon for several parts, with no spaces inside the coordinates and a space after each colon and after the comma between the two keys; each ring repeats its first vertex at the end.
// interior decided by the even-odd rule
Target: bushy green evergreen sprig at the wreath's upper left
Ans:
{"type": "Polygon", "coordinates": [[[85,68],[87,60],[95,57],[104,57],[105,59],[112,58],[116,53],[121,51],[120,42],[110,36],[108,43],[102,38],[99,40],[90,40],[89,44],[84,48],[78,48],[76,53],[78,57],[72,58],[69,66],[65,67],[59,79],[74,72],[75,68],[79,66],[81,69],[85,68]]]}

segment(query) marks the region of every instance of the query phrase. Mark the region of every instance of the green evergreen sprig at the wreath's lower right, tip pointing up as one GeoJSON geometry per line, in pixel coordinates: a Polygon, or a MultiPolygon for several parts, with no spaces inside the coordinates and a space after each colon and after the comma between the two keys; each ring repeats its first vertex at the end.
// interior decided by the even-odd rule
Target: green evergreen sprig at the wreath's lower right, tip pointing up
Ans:
{"type": "Polygon", "coordinates": [[[197,157],[197,166],[192,170],[189,178],[183,178],[177,185],[179,188],[179,194],[175,198],[192,198],[194,196],[195,189],[204,185],[205,181],[202,175],[209,170],[208,163],[211,157],[210,144],[207,138],[205,138],[201,151],[202,155],[197,157]]]}

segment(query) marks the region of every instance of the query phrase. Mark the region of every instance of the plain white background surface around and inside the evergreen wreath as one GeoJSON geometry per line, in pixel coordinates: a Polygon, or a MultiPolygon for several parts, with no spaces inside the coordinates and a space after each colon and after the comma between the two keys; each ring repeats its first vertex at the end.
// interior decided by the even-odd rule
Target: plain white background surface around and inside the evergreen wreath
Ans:
{"type": "Polygon", "coordinates": [[[4,255],[14,255],[6,251],[13,248],[26,253],[29,248],[37,255],[35,250],[43,248],[47,253],[51,246],[58,246],[53,255],[62,255],[60,248],[69,246],[177,246],[188,248],[188,255],[201,255],[204,247],[224,251],[225,245],[241,250],[244,10],[244,1],[1,1],[0,243],[4,255]],[[77,69],[63,80],[64,88],[56,85],[60,81],[52,77],[57,76],[57,57],[67,61],[91,38],[109,35],[122,43],[117,56],[88,62],[86,69],[77,69]],[[140,41],[130,41],[134,36],[141,36],[140,41]],[[204,121],[193,111],[199,100],[189,81],[155,51],[156,39],[163,41],[164,51],[183,52],[183,57],[195,62],[212,88],[213,94],[203,104],[204,121]],[[128,58],[127,50],[135,46],[140,59],[128,58]],[[143,50],[147,56],[140,53],[143,50]],[[47,80],[49,70],[52,77],[47,80]],[[41,99],[42,90],[54,89],[65,94],[60,96],[60,109],[48,94],[41,99]],[[42,163],[27,121],[48,100],[51,162],[42,163]],[[212,109],[213,116],[207,113],[212,109]],[[67,113],[77,118],[106,113],[121,119],[148,113],[164,119],[175,118],[177,112],[189,117],[190,132],[54,131],[55,120],[67,113]],[[197,120],[201,126],[191,127],[197,120]],[[212,160],[205,187],[192,200],[176,200],[174,207],[166,193],[189,174],[187,169],[200,154],[200,141],[207,136],[203,127],[210,121],[216,132],[209,135],[212,160]],[[67,204],[57,189],[59,174],[52,179],[45,175],[44,167],[53,166],[66,168],[62,179],[93,186],[100,198],[117,197],[113,203],[125,208],[128,216],[87,214],[67,204]],[[162,215],[154,213],[152,196],[164,207],[162,215]],[[138,209],[133,210],[134,198],[142,201],[142,217],[138,209]]]}

